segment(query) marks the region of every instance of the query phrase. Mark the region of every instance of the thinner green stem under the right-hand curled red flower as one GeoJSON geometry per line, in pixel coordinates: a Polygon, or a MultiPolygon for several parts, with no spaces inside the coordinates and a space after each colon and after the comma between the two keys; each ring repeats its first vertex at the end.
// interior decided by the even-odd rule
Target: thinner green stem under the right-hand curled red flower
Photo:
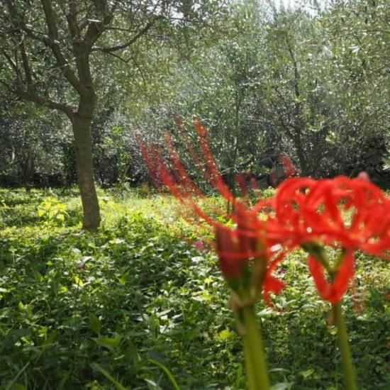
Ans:
{"type": "Polygon", "coordinates": [[[352,363],[350,342],[348,341],[347,328],[344,316],[342,316],[341,301],[332,305],[333,318],[338,327],[338,345],[340,347],[342,369],[344,371],[345,386],[347,390],[357,390],[355,367],[352,363]]]}

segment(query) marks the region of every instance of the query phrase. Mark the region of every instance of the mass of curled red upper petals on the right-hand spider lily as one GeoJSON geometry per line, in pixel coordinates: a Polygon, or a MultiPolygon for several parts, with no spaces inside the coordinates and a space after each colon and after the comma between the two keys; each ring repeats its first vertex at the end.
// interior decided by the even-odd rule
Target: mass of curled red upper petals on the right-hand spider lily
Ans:
{"type": "Polygon", "coordinates": [[[390,248],[389,199],[364,179],[287,179],[273,207],[276,219],[301,244],[316,240],[384,255],[390,248]],[[305,191],[303,191],[305,189],[305,191]]]}

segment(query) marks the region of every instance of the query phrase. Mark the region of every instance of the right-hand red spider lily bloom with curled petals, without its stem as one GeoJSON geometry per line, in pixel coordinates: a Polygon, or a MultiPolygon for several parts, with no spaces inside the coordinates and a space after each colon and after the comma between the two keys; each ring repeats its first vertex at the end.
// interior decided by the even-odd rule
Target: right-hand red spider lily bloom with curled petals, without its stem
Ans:
{"type": "Polygon", "coordinates": [[[313,279],[321,296],[332,303],[345,294],[354,276],[355,250],[384,255],[390,249],[390,201],[366,177],[288,179],[272,204],[286,245],[302,245],[311,252],[308,266],[313,279]],[[345,251],[335,267],[316,255],[321,245],[345,251]],[[333,276],[331,283],[323,275],[325,266],[333,276]]]}

